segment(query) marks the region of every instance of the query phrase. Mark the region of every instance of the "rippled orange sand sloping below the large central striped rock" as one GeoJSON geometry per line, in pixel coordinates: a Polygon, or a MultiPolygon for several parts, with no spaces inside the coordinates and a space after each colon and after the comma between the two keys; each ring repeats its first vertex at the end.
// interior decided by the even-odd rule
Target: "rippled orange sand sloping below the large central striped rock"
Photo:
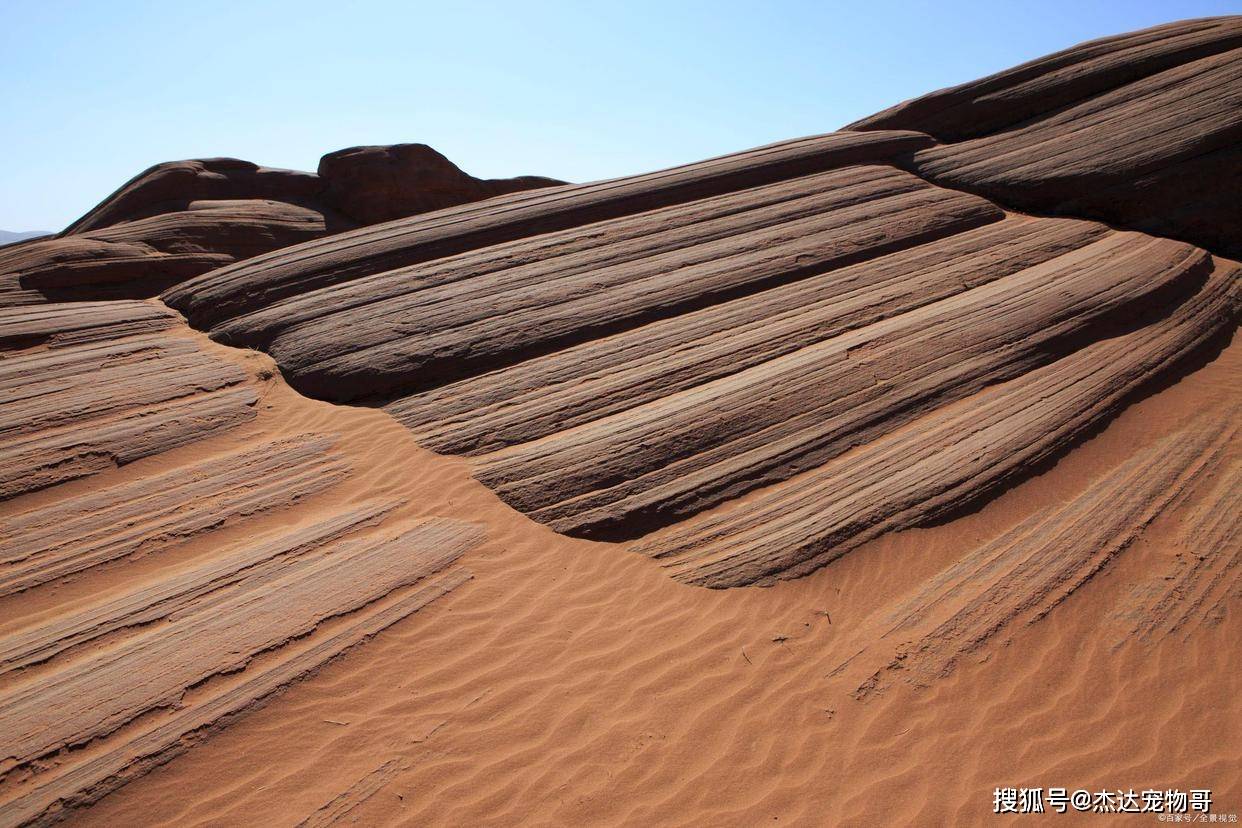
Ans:
{"type": "Polygon", "coordinates": [[[1236,422],[1240,391],[1233,344],[977,511],[873,541],[806,578],[718,592],[556,535],[384,415],[272,380],[256,428],[339,431],[365,469],[334,497],[378,489],[411,515],[483,524],[488,541],[468,559],[476,581],[82,821],[972,823],[991,813],[997,785],[1210,787],[1218,811],[1235,811],[1237,581],[1215,622],[1140,639],[1126,617],[1135,590],[1205,551],[1180,533],[1210,485],[1045,618],[929,686],[898,682],[858,699],[828,674],[877,607],[1205,408],[1236,422]]]}

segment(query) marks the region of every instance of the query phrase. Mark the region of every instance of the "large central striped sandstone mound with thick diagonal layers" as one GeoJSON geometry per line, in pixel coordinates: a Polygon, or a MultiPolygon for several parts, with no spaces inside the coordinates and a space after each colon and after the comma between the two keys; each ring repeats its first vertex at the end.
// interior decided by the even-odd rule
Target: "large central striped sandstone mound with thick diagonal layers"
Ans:
{"type": "Polygon", "coordinates": [[[643,536],[692,583],[789,577],[994,490],[1236,324],[1232,262],[893,166],[934,149],[787,142],[344,233],[165,298],[303,392],[473,456],[559,531],[643,536]]]}

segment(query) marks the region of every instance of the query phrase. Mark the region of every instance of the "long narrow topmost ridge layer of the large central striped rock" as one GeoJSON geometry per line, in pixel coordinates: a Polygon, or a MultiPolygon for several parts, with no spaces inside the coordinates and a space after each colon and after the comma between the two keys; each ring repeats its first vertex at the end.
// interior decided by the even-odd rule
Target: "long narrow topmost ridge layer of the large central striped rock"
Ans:
{"type": "MultiPolygon", "coordinates": [[[[426,221],[414,218],[359,231],[343,243],[324,240],[301,247],[288,257],[265,256],[248,267],[221,269],[211,278],[169,290],[164,298],[194,325],[216,326],[281,299],[299,298],[315,288],[488,245],[723,196],[930,144],[930,139],[910,133],[818,135],[648,175],[510,195],[494,204],[437,211],[426,221]]],[[[795,196],[796,191],[776,195],[775,201],[795,196]]],[[[740,197],[744,209],[745,195],[740,197]]],[[[725,215],[735,211],[737,207],[723,207],[725,215]]],[[[683,221],[693,222],[693,207],[688,207],[688,212],[683,221]]],[[[645,235],[641,227],[628,232],[645,235]]],[[[579,250],[594,243],[585,232],[570,236],[578,241],[569,245],[579,250]]],[[[365,303],[365,298],[361,302],[365,303]]],[[[246,328],[245,322],[238,324],[246,328]]],[[[265,335],[262,330],[255,334],[242,330],[225,339],[248,344],[261,341],[265,335]]]]}

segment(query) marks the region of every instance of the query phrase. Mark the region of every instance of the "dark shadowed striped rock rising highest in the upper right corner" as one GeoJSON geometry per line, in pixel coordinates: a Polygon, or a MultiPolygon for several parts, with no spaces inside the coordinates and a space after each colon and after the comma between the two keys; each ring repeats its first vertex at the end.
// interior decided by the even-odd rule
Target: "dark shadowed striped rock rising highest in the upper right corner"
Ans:
{"type": "Polygon", "coordinates": [[[915,129],[900,160],[1006,205],[1242,258],[1242,16],[1105,37],[847,129],[915,129]]]}

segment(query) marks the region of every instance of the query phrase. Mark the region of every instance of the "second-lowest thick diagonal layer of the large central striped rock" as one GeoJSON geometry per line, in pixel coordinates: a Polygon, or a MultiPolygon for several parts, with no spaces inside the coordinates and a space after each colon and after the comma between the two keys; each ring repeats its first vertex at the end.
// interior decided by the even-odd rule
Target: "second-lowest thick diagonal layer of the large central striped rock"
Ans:
{"type": "Polygon", "coordinates": [[[484,458],[479,478],[574,534],[614,526],[630,534],[636,523],[696,514],[1028,374],[1084,335],[1108,330],[1112,314],[1133,314],[1161,288],[1203,276],[1206,254],[1176,242],[1136,245],[1125,251],[1134,257],[1126,267],[1122,251],[1130,243],[1095,242],[1068,261],[484,458]],[[1165,245],[1174,250],[1161,251],[1165,245]],[[990,324],[994,318],[1006,324],[990,324]]]}

